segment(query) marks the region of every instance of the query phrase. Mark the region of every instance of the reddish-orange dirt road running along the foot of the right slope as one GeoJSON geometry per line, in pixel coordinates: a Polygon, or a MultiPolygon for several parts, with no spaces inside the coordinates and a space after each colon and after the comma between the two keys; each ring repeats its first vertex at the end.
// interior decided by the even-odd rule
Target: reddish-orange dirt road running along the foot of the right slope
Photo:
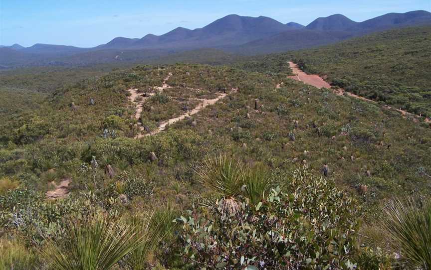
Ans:
{"type": "MultiPolygon", "coordinates": [[[[307,74],[307,73],[303,72],[302,70],[300,70],[298,68],[298,65],[296,65],[295,63],[293,63],[293,62],[288,62],[288,63],[290,65],[290,68],[292,69],[293,74],[295,74],[294,76],[289,76],[288,78],[294,79],[294,80],[297,80],[297,81],[302,81],[303,83],[312,85],[312,86],[314,86],[316,88],[319,88],[319,89],[322,89],[322,88],[328,88],[328,89],[330,89],[331,88],[331,85],[329,83],[327,83],[325,80],[323,80],[323,78],[320,77],[319,75],[310,75],[310,74],[307,74]]],[[[368,102],[372,102],[372,103],[376,103],[377,104],[377,102],[374,101],[374,100],[367,99],[367,98],[355,95],[355,94],[350,93],[350,92],[346,92],[344,89],[341,89],[341,88],[334,89],[333,92],[335,94],[337,94],[338,96],[349,96],[349,97],[353,97],[353,98],[356,98],[356,99],[360,99],[360,100],[364,100],[364,101],[368,101],[368,102]]],[[[397,112],[401,113],[401,115],[403,117],[405,117],[405,116],[414,117],[414,119],[416,121],[417,121],[417,118],[422,118],[421,116],[409,113],[409,112],[401,110],[401,109],[396,109],[396,108],[391,107],[389,105],[385,105],[383,107],[386,108],[386,109],[389,109],[389,110],[397,111],[397,112]]],[[[431,119],[430,118],[426,118],[425,122],[426,123],[431,123],[431,119]]]]}

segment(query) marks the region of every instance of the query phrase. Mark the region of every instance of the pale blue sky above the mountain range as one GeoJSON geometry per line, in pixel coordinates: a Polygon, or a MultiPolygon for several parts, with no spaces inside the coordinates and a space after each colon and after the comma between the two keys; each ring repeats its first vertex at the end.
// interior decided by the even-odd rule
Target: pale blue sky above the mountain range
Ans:
{"type": "Polygon", "coordinates": [[[308,24],[341,13],[363,21],[389,12],[431,10],[431,0],[0,0],[0,44],[106,43],[116,36],[199,28],[227,14],[308,24]]]}

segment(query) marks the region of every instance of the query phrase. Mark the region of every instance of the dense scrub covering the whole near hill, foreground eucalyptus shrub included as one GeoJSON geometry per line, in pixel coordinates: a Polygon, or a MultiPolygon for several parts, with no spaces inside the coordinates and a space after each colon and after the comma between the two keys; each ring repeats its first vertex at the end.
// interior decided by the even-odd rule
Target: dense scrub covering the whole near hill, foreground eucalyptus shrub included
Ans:
{"type": "MultiPolygon", "coordinates": [[[[109,264],[93,261],[96,269],[378,269],[397,261],[387,242],[373,241],[375,228],[387,199],[430,195],[429,125],[290,80],[284,64],[238,65],[242,69],[141,65],[46,96],[2,89],[8,99],[1,99],[6,109],[0,114],[0,249],[34,256],[1,261],[49,267],[53,262],[38,251],[72,256],[68,249],[77,243],[71,236],[88,243],[106,233],[100,226],[126,236],[124,224],[141,228],[132,226],[138,232],[130,239],[143,236],[127,254],[105,258],[109,264]],[[141,131],[127,89],[149,91],[169,73],[173,88],[149,99],[153,110],[141,117],[154,126],[180,113],[183,96],[228,96],[162,133],[135,139],[141,131]],[[217,162],[211,157],[220,153],[224,178],[220,170],[212,173],[217,162]],[[229,188],[226,175],[236,177],[229,188]],[[45,200],[44,192],[64,179],[71,180],[67,198],[45,200]],[[100,215],[109,222],[100,223],[100,215]],[[166,233],[145,248],[148,241],[140,240],[151,228],[166,233]],[[246,249],[247,241],[253,249],[246,249]],[[128,261],[139,249],[142,261],[128,261]],[[233,252],[236,257],[224,256],[233,252]]],[[[57,259],[60,264],[65,256],[57,259]]]]}

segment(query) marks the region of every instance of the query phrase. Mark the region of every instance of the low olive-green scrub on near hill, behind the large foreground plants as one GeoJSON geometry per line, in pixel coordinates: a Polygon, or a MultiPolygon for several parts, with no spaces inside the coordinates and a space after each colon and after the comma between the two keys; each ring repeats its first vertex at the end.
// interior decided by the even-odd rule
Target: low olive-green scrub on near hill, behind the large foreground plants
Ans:
{"type": "MultiPolygon", "coordinates": [[[[267,61],[277,59],[268,56],[267,61]]],[[[236,185],[240,189],[235,194],[241,199],[226,198],[236,209],[242,201],[252,206],[265,202],[268,192],[264,189],[273,182],[283,190],[294,190],[286,175],[303,163],[312,174],[320,174],[323,164],[328,164],[334,182],[364,206],[357,218],[370,226],[381,218],[386,199],[406,193],[430,195],[428,124],[284,75],[193,64],[137,66],[65,86],[48,98],[25,98],[16,92],[16,97],[24,97],[17,109],[14,92],[7,90],[8,98],[0,99],[1,105],[7,105],[0,106],[7,108],[4,114],[0,112],[0,177],[16,180],[20,186],[0,196],[0,232],[22,239],[27,246],[40,247],[43,239],[64,230],[64,219],[87,219],[97,209],[112,220],[151,213],[167,201],[175,202],[177,209],[199,205],[214,190],[203,189],[194,171],[201,160],[218,153],[236,156],[247,164],[242,165],[245,168],[262,164],[270,176],[268,184],[250,185],[250,191],[251,187],[258,191],[250,192],[257,194],[254,199],[245,193],[247,186],[236,185]],[[165,105],[175,107],[164,115],[158,111],[162,104],[152,105],[155,115],[151,117],[159,118],[157,121],[166,120],[171,113],[183,114],[183,105],[190,101],[188,106],[193,107],[198,102],[194,98],[214,98],[222,92],[228,96],[157,135],[134,139],[140,131],[135,127],[136,107],[129,102],[126,89],[153,89],[169,73],[173,76],[167,83],[173,87],[164,92],[170,98],[165,105]],[[90,97],[95,105],[89,105],[90,97]],[[259,110],[252,109],[255,99],[263,105],[259,110]],[[122,130],[110,128],[104,136],[104,123],[110,118],[118,120],[114,124],[121,123],[122,130]],[[48,128],[49,133],[31,136],[28,142],[16,140],[16,132],[32,121],[47,124],[32,128],[48,128]],[[149,158],[151,152],[157,156],[154,162],[149,158]],[[106,164],[115,168],[113,178],[105,175],[106,164]],[[126,190],[126,181],[119,179],[122,171],[145,179],[151,189],[138,185],[145,195],[134,196],[123,205],[118,199],[119,192],[126,190]],[[58,183],[64,178],[71,179],[69,199],[45,202],[44,192],[50,188],[47,181],[58,183]],[[148,190],[153,190],[151,195],[148,190]]],[[[150,113],[144,110],[145,119],[150,113]]],[[[185,267],[175,256],[184,247],[162,242],[154,260],[167,269],[185,267]]]]}

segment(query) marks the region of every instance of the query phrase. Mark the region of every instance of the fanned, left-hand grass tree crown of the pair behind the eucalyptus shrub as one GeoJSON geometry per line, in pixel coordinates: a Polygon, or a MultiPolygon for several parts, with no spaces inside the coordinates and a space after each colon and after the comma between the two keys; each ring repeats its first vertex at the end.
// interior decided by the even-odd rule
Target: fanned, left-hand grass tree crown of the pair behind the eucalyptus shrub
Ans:
{"type": "Polygon", "coordinates": [[[243,184],[241,162],[225,155],[207,159],[197,170],[200,182],[212,191],[226,197],[240,193],[243,184]]]}

